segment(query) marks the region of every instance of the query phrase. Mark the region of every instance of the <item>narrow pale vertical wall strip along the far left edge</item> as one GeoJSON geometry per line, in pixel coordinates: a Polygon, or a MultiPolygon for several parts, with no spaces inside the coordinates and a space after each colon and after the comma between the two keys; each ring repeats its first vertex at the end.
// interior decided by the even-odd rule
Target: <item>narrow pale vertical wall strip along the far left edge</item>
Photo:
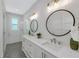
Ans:
{"type": "Polygon", "coordinates": [[[0,57],[3,57],[3,6],[0,0],[0,57]]]}

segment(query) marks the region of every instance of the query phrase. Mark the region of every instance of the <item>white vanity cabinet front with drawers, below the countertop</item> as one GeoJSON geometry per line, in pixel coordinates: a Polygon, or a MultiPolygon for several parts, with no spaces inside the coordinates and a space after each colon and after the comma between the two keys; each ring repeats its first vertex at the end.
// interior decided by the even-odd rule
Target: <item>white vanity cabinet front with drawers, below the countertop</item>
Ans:
{"type": "Polygon", "coordinates": [[[56,58],[41,48],[38,44],[35,44],[28,39],[23,40],[22,50],[28,58],[56,58]]]}

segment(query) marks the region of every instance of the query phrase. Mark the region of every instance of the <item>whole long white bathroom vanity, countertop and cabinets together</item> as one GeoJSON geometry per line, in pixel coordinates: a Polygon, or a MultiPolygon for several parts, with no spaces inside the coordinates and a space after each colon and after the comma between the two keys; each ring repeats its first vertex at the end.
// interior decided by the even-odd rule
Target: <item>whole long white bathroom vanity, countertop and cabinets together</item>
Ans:
{"type": "Polygon", "coordinates": [[[62,44],[53,44],[46,38],[24,35],[22,50],[28,58],[78,58],[79,51],[73,51],[62,44]]]}

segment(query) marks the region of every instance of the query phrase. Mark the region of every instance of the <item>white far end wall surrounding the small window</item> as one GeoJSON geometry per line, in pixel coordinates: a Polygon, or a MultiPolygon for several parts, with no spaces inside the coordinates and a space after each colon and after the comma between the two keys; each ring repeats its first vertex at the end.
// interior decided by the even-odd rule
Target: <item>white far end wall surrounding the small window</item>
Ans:
{"type": "Polygon", "coordinates": [[[23,30],[22,30],[22,21],[23,21],[23,16],[22,15],[18,15],[18,14],[13,14],[13,13],[9,13],[9,12],[7,12],[6,13],[7,14],[7,21],[6,21],[6,43],[7,44],[11,44],[11,43],[16,43],[16,42],[20,42],[20,41],[22,41],[22,32],[23,32],[23,30]],[[12,17],[13,16],[17,16],[18,18],[19,18],[19,32],[18,32],[18,34],[17,34],[17,32],[15,33],[15,34],[12,34],[12,36],[11,36],[11,19],[12,19],[12,17]],[[17,35],[18,36],[17,36],[17,35]],[[14,36],[14,35],[16,35],[16,37],[14,36]],[[11,36],[11,38],[10,38],[10,36],[11,36]]]}

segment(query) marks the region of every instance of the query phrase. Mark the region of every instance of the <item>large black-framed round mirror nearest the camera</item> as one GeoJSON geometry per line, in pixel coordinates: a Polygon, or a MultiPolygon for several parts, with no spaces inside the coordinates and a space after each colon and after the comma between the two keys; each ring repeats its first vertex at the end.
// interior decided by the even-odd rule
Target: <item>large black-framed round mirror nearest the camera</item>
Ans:
{"type": "Polygon", "coordinates": [[[46,20],[47,31],[54,36],[64,36],[71,32],[75,25],[75,17],[68,10],[57,10],[51,13],[46,20]]]}

